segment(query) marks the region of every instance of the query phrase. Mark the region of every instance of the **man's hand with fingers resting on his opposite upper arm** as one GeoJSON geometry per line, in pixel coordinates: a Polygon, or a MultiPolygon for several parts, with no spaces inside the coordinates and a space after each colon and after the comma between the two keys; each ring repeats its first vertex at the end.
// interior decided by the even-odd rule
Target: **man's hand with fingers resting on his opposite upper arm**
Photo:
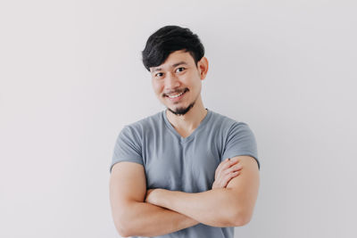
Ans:
{"type": "Polygon", "coordinates": [[[239,164],[237,158],[230,160],[229,158],[220,162],[216,168],[212,189],[225,188],[229,181],[239,175],[242,165],[239,164]]]}

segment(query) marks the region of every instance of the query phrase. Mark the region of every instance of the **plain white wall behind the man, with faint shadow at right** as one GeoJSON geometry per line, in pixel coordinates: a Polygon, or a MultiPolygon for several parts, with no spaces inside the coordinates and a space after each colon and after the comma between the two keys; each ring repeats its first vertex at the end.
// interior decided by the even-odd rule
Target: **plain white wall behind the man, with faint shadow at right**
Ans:
{"type": "Polygon", "coordinates": [[[357,237],[353,1],[2,1],[0,237],[119,237],[121,127],[164,108],[141,62],[167,24],[210,62],[204,106],[253,129],[261,188],[236,237],[357,237]]]}

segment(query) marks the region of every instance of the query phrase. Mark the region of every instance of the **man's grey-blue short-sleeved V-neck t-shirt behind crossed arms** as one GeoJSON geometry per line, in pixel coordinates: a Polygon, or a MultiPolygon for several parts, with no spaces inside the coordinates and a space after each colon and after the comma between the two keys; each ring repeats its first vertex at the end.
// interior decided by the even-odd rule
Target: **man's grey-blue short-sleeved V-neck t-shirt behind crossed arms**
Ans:
{"type": "MultiPolygon", "coordinates": [[[[252,156],[260,167],[253,132],[244,122],[207,110],[195,131],[183,138],[161,111],[120,131],[110,169],[120,161],[135,162],[145,168],[147,189],[200,193],[212,189],[220,162],[238,155],[252,156]]],[[[157,237],[233,236],[233,227],[198,224],[157,237]]]]}

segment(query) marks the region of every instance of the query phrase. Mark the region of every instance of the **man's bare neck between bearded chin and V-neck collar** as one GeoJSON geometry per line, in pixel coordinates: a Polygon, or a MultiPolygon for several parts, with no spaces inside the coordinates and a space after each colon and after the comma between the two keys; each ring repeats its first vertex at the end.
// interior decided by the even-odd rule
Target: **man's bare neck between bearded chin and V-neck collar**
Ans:
{"type": "Polygon", "coordinates": [[[175,129],[191,132],[195,130],[204,119],[207,114],[207,110],[203,106],[202,98],[196,100],[195,105],[187,111],[185,115],[175,115],[171,111],[166,110],[167,119],[175,129]]]}

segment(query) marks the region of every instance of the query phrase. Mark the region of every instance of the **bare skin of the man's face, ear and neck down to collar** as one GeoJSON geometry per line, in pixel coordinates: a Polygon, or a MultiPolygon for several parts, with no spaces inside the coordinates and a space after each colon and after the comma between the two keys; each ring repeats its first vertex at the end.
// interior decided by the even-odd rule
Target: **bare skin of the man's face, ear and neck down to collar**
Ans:
{"type": "Polygon", "coordinates": [[[167,118],[183,137],[190,135],[204,119],[205,110],[201,97],[202,81],[207,75],[208,61],[203,57],[197,65],[190,53],[177,51],[158,67],[150,68],[154,94],[168,108],[167,118]],[[187,91],[179,100],[168,95],[187,91]],[[172,111],[183,111],[194,104],[184,115],[172,111]]]}

